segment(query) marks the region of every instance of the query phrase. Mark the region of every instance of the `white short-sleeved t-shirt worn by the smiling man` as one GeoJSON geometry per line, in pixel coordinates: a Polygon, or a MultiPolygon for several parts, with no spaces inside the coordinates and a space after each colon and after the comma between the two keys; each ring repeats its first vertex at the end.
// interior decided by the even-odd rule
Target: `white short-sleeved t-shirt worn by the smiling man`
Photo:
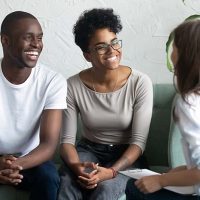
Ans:
{"type": "Polygon", "coordinates": [[[67,82],[37,64],[28,79],[10,83],[0,67],[0,155],[23,156],[39,144],[40,117],[46,109],[65,109],[67,82]]]}

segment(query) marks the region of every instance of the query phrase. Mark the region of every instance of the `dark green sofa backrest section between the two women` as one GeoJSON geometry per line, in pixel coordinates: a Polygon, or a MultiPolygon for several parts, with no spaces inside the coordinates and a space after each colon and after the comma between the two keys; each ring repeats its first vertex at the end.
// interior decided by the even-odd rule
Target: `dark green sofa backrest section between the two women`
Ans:
{"type": "Polygon", "coordinates": [[[153,85],[153,114],[144,153],[150,166],[169,167],[168,140],[174,96],[172,84],[153,85]]]}

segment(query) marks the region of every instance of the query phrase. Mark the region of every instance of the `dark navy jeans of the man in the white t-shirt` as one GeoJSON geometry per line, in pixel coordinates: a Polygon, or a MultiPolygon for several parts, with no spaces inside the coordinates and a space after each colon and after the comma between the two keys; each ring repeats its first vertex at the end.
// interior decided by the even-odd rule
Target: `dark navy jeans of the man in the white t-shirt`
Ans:
{"type": "Polygon", "coordinates": [[[30,200],[56,200],[59,188],[59,175],[53,162],[23,170],[22,182],[18,189],[29,190],[30,200]]]}

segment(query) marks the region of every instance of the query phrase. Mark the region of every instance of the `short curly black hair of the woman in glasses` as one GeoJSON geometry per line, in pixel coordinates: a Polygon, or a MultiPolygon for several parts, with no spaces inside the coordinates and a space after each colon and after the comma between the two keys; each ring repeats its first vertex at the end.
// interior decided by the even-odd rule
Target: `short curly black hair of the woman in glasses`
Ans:
{"type": "Polygon", "coordinates": [[[119,15],[113,9],[92,9],[84,11],[73,27],[75,43],[83,52],[88,51],[89,41],[97,29],[108,28],[113,33],[122,30],[119,15]]]}

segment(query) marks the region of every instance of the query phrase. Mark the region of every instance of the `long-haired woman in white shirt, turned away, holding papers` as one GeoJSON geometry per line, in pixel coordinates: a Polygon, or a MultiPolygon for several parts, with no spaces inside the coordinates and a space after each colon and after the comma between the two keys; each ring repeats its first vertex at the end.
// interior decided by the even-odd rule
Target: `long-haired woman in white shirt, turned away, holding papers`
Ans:
{"type": "Polygon", "coordinates": [[[128,183],[128,200],[198,200],[200,199],[200,20],[186,21],[172,32],[174,76],[180,95],[174,107],[174,120],[181,135],[187,166],[166,174],[146,176],[128,183]],[[135,182],[135,183],[133,183],[135,182]],[[181,195],[166,186],[192,186],[194,195],[181,195]]]}

